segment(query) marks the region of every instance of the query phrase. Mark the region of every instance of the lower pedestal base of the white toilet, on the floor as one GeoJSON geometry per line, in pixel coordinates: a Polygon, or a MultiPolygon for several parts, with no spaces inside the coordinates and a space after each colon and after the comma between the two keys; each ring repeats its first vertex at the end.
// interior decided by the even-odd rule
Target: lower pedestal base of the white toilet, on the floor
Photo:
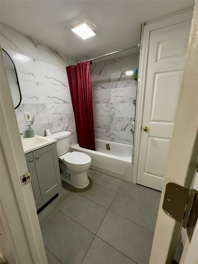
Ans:
{"type": "Polygon", "coordinates": [[[69,174],[68,172],[66,173],[62,172],[61,180],[64,180],[65,182],[79,189],[85,188],[89,185],[89,179],[86,171],[81,174],[74,174],[74,173],[69,174]]]}

